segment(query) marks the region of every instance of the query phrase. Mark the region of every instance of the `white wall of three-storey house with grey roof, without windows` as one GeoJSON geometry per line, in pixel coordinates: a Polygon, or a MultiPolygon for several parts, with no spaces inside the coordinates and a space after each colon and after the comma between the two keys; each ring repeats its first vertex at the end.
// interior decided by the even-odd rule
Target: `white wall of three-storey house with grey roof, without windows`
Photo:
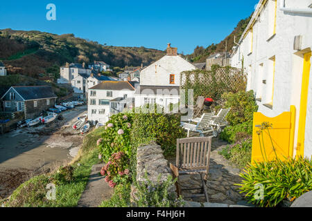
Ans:
{"type": "Polygon", "coordinates": [[[92,121],[98,122],[107,122],[110,116],[110,105],[99,105],[99,99],[115,99],[116,97],[123,97],[123,95],[127,95],[127,97],[134,97],[135,90],[94,90],[96,91],[96,96],[91,96],[91,91],[88,93],[88,119],[92,121]],[[107,97],[107,91],[112,91],[112,97],[107,97]],[[91,105],[90,99],[96,99],[96,105],[91,105]],[[105,113],[103,115],[99,114],[100,109],[105,109],[105,113]],[[96,110],[96,114],[92,114],[92,110],[96,110]]]}

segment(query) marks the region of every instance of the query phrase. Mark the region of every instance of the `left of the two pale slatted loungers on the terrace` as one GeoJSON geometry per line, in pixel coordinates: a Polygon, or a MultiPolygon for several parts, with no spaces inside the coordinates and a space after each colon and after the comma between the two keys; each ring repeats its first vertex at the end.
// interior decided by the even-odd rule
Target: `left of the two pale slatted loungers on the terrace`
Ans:
{"type": "Polygon", "coordinates": [[[197,124],[191,124],[187,122],[181,122],[182,128],[184,130],[187,130],[187,137],[189,137],[189,132],[198,132],[200,133],[200,136],[204,136],[204,133],[209,133],[214,131],[211,126],[209,126],[212,117],[214,116],[214,113],[204,113],[202,117],[198,120],[197,124]]]}

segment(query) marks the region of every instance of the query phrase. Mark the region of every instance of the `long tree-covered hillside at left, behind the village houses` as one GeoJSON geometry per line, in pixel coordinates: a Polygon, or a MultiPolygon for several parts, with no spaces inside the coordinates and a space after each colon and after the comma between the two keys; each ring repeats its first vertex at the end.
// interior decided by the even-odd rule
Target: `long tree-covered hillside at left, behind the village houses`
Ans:
{"type": "Polygon", "coordinates": [[[116,47],[75,37],[40,31],[0,30],[0,60],[8,74],[39,77],[59,73],[66,62],[91,64],[105,61],[111,66],[144,66],[165,55],[162,50],[144,47],[116,47]]]}

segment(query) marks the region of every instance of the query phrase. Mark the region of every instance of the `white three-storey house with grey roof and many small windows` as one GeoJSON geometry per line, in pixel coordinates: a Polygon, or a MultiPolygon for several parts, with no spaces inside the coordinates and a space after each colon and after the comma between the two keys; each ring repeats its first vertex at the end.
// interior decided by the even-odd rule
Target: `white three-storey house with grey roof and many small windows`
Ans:
{"type": "MultiPolygon", "coordinates": [[[[110,101],[119,98],[118,101],[121,102],[123,99],[134,97],[134,93],[135,87],[129,81],[103,81],[89,88],[88,119],[93,122],[107,122],[111,116],[110,101]]],[[[114,105],[113,102],[112,109],[115,110],[117,107],[114,105]]]]}

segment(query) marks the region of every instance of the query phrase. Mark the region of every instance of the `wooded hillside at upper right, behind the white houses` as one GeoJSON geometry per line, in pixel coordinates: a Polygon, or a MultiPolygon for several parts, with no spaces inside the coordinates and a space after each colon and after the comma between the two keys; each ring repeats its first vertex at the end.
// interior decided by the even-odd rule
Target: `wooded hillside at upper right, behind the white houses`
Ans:
{"type": "Polygon", "coordinates": [[[236,28],[234,28],[233,32],[227,37],[225,37],[223,41],[220,41],[219,44],[211,44],[207,48],[197,46],[191,55],[186,56],[187,59],[194,63],[205,62],[207,57],[209,57],[209,55],[213,55],[214,53],[217,52],[225,52],[226,44],[227,44],[227,52],[229,53],[232,52],[232,48],[235,46],[234,36],[236,37],[236,42],[239,41],[241,35],[243,35],[245,28],[248,26],[251,17],[252,15],[250,15],[250,17],[246,19],[242,19],[241,21],[239,21],[236,28]]]}

